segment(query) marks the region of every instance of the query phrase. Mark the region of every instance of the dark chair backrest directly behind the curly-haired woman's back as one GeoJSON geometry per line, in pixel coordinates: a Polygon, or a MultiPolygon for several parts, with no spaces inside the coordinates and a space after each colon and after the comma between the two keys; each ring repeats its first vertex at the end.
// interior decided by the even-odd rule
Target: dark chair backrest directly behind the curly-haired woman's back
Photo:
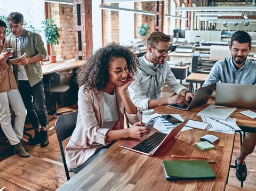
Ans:
{"type": "Polygon", "coordinates": [[[60,115],[55,121],[55,129],[59,142],[70,137],[76,127],[77,111],[60,115]]]}

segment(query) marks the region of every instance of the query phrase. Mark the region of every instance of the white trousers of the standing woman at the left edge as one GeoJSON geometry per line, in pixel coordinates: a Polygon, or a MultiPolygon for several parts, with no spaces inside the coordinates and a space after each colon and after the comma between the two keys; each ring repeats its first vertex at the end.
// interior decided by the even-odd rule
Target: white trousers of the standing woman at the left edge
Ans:
{"type": "Polygon", "coordinates": [[[5,136],[11,143],[16,145],[20,143],[19,139],[23,137],[23,128],[26,119],[26,110],[22,102],[18,89],[11,89],[0,93],[0,124],[5,136]],[[15,113],[14,127],[11,124],[10,107],[15,113]]]}

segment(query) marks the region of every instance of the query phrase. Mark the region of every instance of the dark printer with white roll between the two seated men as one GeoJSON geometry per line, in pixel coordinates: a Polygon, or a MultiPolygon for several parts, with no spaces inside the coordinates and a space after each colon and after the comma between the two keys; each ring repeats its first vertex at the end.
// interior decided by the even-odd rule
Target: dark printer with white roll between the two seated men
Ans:
{"type": "Polygon", "coordinates": [[[215,62],[230,57],[228,46],[211,45],[209,54],[194,54],[192,57],[192,69],[194,73],[210,73],[215,62]]]}

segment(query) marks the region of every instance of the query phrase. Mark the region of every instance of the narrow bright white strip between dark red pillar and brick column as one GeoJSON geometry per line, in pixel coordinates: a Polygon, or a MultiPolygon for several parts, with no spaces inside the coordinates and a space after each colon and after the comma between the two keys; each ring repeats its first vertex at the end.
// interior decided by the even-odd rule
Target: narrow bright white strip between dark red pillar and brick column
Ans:
{"type": "Polygon", "coordinates": [[[99,5],[101,0],[92,1],[92,48],[93,52],[102,47],[102,19],[99,5]]]}

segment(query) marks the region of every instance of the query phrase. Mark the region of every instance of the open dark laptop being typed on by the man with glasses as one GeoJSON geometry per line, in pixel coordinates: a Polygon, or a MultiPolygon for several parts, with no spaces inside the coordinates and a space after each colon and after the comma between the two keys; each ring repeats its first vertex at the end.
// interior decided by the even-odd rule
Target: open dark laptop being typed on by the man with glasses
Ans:
{"type": "Polygon", "coordinates": [[[174,105],[166,104],[166,105],[170,107],[175,107],[181,110],[191,110],[195,107],[198,107],[200,105],[207,103],[214,90],[215,90],[215,84],[204,86],[198,89],[195,97],[190,100],[188,105],[179,105],[179,104],[174,104],[174,105]]]}

